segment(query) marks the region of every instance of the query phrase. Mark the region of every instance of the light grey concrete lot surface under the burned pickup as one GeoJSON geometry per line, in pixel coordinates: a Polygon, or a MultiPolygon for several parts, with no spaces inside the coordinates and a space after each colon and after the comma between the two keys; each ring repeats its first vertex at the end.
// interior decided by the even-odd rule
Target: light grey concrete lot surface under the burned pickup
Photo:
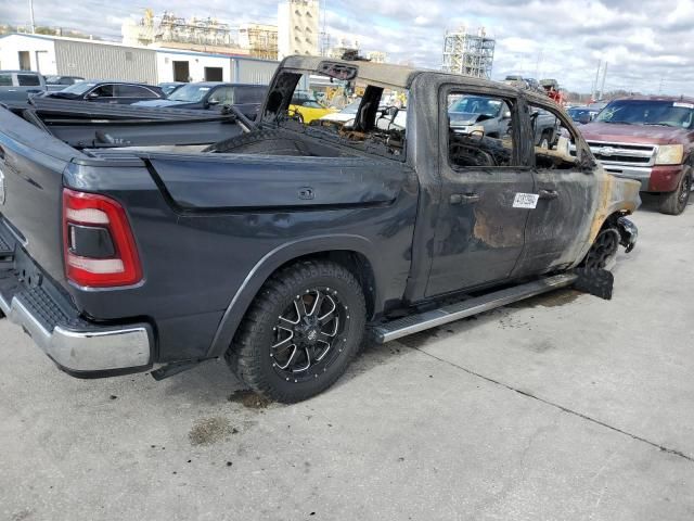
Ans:
{"type": "Polygon", "coordinates": [[[0,320],[1,520],[692,520],[694,207],[563,291],[282,406],[222,363],[80,381],[0,320]]]}

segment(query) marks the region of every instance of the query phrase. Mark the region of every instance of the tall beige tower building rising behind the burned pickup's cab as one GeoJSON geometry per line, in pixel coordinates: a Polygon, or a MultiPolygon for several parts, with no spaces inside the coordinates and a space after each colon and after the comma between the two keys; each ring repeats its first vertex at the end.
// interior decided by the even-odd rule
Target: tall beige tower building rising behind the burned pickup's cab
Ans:
{"type": "Polygon", "coordinates": [[[319,0],[284,0],[278,7],[279,59],[292,54],[319,54],[319,0]]]}

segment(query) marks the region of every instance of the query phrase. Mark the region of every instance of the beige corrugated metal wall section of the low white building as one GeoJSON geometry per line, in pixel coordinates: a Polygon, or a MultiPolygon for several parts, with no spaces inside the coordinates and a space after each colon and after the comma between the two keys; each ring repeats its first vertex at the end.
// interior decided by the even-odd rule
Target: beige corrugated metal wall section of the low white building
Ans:
{"type": "Polygon", "coordinates": [[[156,84],[156,51],[91,41],[55,40],[57,74],[156,84]]]}

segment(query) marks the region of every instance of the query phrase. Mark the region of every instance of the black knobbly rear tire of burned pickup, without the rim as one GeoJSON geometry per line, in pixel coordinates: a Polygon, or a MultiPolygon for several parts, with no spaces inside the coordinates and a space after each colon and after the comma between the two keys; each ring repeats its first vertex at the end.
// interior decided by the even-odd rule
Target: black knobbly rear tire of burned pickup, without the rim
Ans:
{"type": "Polygon", "coordinates": [[[340,264],[327,260],[300,262],[274,274],[260,289],[226,354],[230,369],[250,389],[282,403],[296,403],[325,391],[345,372],[361,347],[367,306],[357,278],[340,264]],[[338,335],[335,358],[320,374],[295,381],[278,368],[271,357],[279,317],[298,295],[314,288],[338,295],[347,320],[338,335]]]}

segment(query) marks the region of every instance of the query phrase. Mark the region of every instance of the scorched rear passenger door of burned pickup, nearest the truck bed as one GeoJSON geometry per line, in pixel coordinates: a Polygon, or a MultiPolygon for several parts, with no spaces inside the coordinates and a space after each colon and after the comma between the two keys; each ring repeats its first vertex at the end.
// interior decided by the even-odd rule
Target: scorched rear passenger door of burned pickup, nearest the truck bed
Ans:
{"type": "Polygon", "coordinates": [[[531,168],[522,164],[517,147],[520,103],[453,87],[439,96],[441,204],[426,296],[503,281],[516,266],[530,213],[524,194],[534,192],[531,168]],[[511,107],[502,136],[451,126],[448,107],[468,94],[511,107]]]}

